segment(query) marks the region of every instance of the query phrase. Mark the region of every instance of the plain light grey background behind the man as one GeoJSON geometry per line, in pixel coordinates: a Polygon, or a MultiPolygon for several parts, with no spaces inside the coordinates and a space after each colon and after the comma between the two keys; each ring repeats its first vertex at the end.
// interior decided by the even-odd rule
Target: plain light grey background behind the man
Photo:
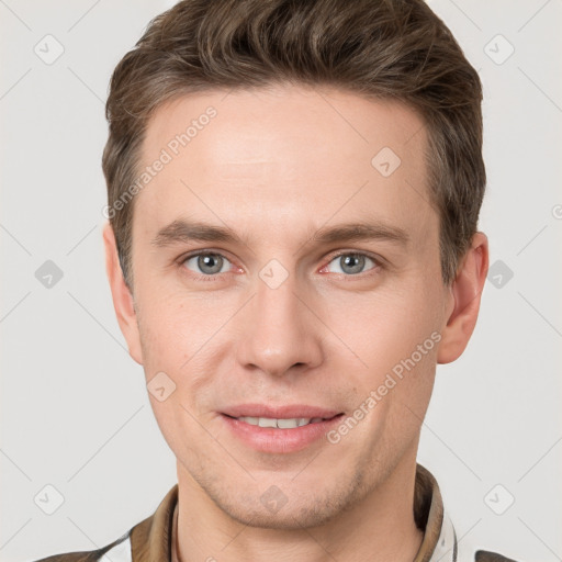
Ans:
{"type": "MultiPolygon", "coordinates": [[[[2,561],[106,544],[176,483],[114,317],[101,240],[108,82],[171,4],[0,0],[2,561]],[[47,34],[64,47],[52,64],[34,52],[56,54],[47,34]],[[47,260],[63,271],[50,288],[36,278],[47,260]],[[55,507],[54,493],[50,506],[34,502],[48,484],[64,496],[53,515],[43,509],[55,507]]],[[[495,269],[469,348],[438,368],[418,461],[437,477],[464,548],[553,562],[562,560],[562,2],[430,5],[484,85],[481,229],[495,269]]]]}

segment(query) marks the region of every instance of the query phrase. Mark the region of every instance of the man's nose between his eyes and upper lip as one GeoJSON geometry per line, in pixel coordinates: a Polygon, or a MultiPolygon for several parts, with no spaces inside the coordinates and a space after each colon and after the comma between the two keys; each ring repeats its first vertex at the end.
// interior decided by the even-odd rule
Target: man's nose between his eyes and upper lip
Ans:
{"type": "Polygon", "coordinates": [[[256,293],[238,318],[237,360],[245,369],[292,376],[321,364],[323,324],[314,303],[297,294],[294,276],[272,286],[257,277],[256,293]]]}

